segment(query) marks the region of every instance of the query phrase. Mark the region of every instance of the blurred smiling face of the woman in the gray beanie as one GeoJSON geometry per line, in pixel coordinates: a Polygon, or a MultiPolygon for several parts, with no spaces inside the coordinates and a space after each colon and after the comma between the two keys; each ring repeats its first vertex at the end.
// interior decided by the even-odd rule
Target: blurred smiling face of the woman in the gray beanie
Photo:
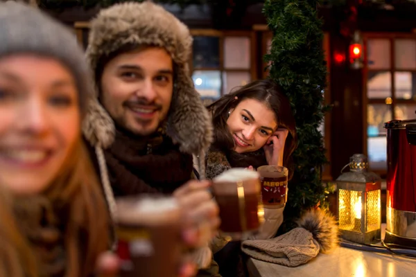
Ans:
{"type": "Polygon", "coordinates": [[[2,57],[0,118],[1,186],[19,194],[40,193],[80,138],[73,76],[48,57],[2,57]]]}

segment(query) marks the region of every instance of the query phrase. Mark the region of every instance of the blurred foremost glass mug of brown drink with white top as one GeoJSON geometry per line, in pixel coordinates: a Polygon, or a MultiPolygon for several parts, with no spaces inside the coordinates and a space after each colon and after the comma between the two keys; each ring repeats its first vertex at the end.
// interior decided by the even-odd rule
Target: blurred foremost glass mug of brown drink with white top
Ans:
{"type": "Polygon", "coordinates": [[[173,197],[116,199],[119,276],[177,277],[184,245],[182,209],[173,197]]]}

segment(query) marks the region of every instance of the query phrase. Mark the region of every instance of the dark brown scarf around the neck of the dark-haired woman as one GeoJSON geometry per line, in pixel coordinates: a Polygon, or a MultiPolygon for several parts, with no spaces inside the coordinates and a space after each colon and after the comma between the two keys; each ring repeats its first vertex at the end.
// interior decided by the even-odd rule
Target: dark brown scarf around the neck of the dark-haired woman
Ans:
{"type": "Polygon", "coordinates": [[[207,179],[214,179],[225,170],[231,168],[248,168],[252,166],[254,169],[260,166],[266,166],[266,155],[263,149],[255,152],[239,154],[234,151],[221,151],[211,147],[207,152],[207,179]]]}

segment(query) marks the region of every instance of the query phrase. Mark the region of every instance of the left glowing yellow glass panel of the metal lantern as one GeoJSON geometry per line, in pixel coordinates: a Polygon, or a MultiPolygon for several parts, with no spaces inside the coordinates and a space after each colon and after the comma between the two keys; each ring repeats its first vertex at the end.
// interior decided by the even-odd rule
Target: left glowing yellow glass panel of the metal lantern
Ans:
{"type": "Polygon", "coordinates": [[[361,191],[339,190],[339,228],[361,233],[361,191]]]}

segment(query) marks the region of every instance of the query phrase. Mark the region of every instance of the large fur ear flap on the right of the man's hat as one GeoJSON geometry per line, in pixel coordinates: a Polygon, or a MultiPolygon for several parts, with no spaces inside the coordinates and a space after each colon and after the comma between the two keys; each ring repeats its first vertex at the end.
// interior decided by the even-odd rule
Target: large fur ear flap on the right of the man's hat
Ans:
{"type": "Polygon", "coordinates": [[[188,65],[177,65],[175,91],[171,111],[168,114],[166,134],[173,143],[180,143],[180,150],[189,154],[200,154],[209,148],[212,141],[212,124],[207,109],[193,87],[188,65]]]}

